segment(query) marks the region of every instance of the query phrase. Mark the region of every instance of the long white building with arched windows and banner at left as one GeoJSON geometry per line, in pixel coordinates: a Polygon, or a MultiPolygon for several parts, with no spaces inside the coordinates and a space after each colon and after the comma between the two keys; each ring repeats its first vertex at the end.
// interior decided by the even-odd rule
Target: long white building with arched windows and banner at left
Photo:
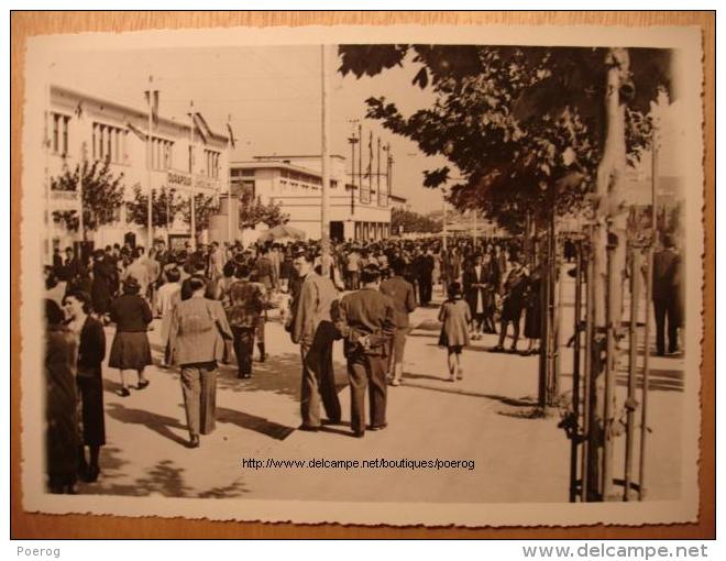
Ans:
{"type": "MultiPolygon", "coordinates": [[[[110,162],[113,177],[123,174],[124,204],[112,223],[96,231],[86,229],[86,240],[96,248],[133,240],[146,245],[146,224],[131,220],[127,204],[134,200],[134,187],[147,195],[150,189],[174,189],[183,201],[204,194],[219,201],[229,188],[228,136],[212,132],[198,112],[185,122],[156,116],[152,120],[151,166],[147,166],[148,110],[128,107],[72,89],[52,86],[46,119],[46,204],[53,219],[48,224],[52,248],[65,248],[81,239],[80,231],[67,228],[63,215],[78,217],[80,189],[54,189],[54,179],[65,169],[73,172],[84,161],[110,162]],[[151,168],[150,168],[151,167],[151,168]]],[[[190,207],[189,207],[190,209],[190,207]]],[[[180,243],[191,240],[190,210],[165,224],[154,227],[154,239],[180,243]]],[[[207,241],[210,232],[195,229],[196,240],[207,241]]],[[[224,238],[226,239],[226,238],[224,238]]]]}

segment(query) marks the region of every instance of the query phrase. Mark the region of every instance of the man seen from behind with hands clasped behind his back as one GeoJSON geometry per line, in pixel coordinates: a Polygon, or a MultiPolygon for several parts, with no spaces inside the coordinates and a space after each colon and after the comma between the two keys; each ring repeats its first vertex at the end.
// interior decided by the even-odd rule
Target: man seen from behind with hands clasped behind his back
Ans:
{"type": "Polygon", "coordinates": [[[365,435],[365,392],[371,395],[371,430],[386,428],[386,353],[395,330],[394,304],[378,290],[381,272],[366,265],[363,288],[345,295],[337,308],[336,327],[343,336],[351,385],[351,428],[365,435]]]}

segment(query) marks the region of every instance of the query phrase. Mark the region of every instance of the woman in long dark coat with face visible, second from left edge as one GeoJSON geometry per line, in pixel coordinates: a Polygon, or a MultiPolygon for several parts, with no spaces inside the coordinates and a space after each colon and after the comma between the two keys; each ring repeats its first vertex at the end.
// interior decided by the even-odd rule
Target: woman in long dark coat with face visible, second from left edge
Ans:
{"type": "Polygon", "coordinates": [[[87,293],[75,292],[63,304],[69,318],[68,328],[78,336],[76,383],[80,393],[82,442],[78,448],[78,472],[87,482],[94,482],[100,473],[99,455],[106,444],[103,419],[103,377],[101,363],[106,356],[106,334],[99,320],[90,316],[91,298],[87,293]],[[89,462],[86,461],[86,448],[89,462]]]}

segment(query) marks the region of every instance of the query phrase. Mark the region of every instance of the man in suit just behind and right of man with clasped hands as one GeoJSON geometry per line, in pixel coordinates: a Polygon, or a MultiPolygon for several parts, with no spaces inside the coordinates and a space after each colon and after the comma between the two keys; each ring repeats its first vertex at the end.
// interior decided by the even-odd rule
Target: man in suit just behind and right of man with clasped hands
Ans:
{"type": "Polygon", "coordinates": [[[388,377],[392,386],[399,386],[404,375],[404,349],[408,334],[408,315],[416,309],[416,294],[414,286],[404,278],[406,263],[400,257],[391,261],[394,276],[381,283],[381,292],[388,296],[394,304],[394,331],[392,352],[388,361],[388,377]]]}

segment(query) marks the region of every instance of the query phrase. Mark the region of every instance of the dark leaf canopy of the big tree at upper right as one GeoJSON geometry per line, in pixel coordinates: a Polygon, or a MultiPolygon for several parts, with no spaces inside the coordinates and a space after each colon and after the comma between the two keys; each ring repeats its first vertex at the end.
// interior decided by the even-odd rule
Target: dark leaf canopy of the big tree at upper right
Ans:
{"type": "MultiPolygon", "coordinates": [[[[531,212],[568,212],[595,182],[605,131],[607,50],[461,45],[344,45],[340,73],[373,76],[415,65],[413,84],[430,88],[431,107],[402,114],[383,97],[366,117],[443,155],[463,176],[449,200],[512,223],[531,212]]],[[[630,50],[632,82],[624,88],[629,162],[650,141],[650,102],[669,86],[669,52],[630,50]]],[[[425,173],[424,185],[451,182],[449,166],[425,173]]]]}

